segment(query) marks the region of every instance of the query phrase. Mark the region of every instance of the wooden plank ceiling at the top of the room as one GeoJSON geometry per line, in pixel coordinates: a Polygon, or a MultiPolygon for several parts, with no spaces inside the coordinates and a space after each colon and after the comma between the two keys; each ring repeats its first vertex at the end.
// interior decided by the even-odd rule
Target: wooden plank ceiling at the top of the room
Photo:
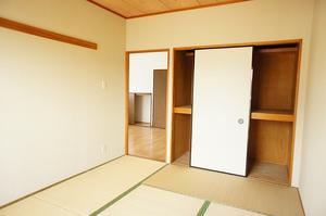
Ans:
{"type": "Polygon", "coordinates": [[[248,0],[88,0],[124,18],[216,7],[248,0]]]}

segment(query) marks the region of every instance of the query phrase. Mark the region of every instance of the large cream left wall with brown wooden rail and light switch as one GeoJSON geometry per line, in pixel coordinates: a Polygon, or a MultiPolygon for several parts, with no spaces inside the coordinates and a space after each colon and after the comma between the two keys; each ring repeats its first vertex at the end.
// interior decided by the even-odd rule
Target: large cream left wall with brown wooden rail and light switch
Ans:
{"type": "Polygon", "coordinates": [[[2,205],[124,154],[125,21],[80,0],[1,0],[0,16],[99,45],[0,28],[2,205]]]}

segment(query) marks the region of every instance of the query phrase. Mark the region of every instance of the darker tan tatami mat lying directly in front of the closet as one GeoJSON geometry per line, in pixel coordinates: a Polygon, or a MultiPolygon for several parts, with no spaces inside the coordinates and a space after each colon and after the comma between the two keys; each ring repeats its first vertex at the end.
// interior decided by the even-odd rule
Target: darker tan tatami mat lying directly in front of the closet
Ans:
{"type": "Polygon", "coordinates": [[[256,213],[303,215],[297,189],[216,171],[170,165],[145,183],[256,213]]]}

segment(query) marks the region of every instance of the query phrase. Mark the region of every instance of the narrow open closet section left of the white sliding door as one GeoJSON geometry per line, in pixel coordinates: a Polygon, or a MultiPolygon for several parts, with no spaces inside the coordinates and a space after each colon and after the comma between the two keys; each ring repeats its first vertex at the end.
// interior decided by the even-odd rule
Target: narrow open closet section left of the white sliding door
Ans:
{"type": "Polygon", "coordinates": [[[172,163],[189,166],[193,50],[174,50],[172,163]]]}

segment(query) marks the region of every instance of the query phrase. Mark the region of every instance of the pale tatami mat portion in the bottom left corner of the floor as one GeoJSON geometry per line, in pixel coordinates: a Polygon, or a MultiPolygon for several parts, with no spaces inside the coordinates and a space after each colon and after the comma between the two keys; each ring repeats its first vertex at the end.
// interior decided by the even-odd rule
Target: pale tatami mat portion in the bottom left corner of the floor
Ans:
{"type": "Polygon", "coordinates": [[[37,198],[27,198],[0,209],[0,216],[77,216],[77,214],[51,205],[37,198]]]}

